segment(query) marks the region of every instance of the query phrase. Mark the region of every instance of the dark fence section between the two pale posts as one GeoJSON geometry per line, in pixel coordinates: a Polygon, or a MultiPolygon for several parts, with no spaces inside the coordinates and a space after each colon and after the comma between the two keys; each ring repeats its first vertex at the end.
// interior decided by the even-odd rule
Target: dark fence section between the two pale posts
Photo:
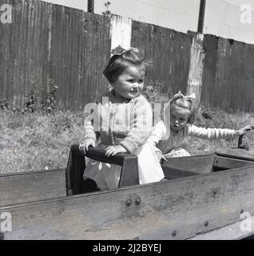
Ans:
{"type": "Polygon", "coordinates": [[[147,84],[169,95],[186,93],[192,35],[133,21],[131,45],[145,50],[145,57],[153,61],[147,84]]]}

